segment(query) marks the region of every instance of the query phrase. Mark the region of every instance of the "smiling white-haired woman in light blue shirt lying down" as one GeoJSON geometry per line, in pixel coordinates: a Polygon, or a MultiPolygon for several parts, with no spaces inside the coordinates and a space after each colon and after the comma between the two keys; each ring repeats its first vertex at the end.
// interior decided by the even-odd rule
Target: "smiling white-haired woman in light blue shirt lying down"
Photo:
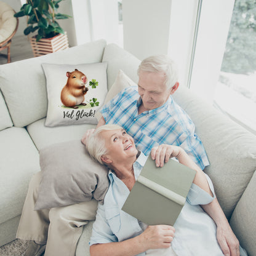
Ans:
{"type": "MultiPolygon", "coordinates": [[[[200,206],[215,198],[212,182],[182,148],[161,145],[151,151],[156,166],[177,158],[196,170],[174,226],[147,226],[121,210],[146,161],[124,129],[114,124],[98,127],[88,138],[87,150],[98,162],[110,167],[110,186],[104,204],[98,204],[90,255],[223,255],[216,225],[200,206]]],[[[239,255],[239,249],[231,255],[239,255]]]]}

